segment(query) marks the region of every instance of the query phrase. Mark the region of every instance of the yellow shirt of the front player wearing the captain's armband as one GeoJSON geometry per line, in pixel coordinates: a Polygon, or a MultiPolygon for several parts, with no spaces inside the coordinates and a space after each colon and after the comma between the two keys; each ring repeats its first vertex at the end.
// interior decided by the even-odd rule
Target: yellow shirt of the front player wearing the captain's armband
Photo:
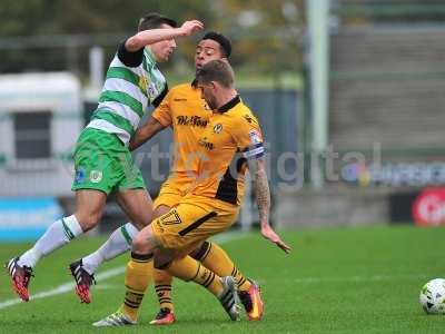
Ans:
{"type": "Polygon", "coordinates": [[[212,114],[199,139],[199,166],[194,195],[240,205],[246,159],[264,156],[257,118],[239,96],[212,114]]]}

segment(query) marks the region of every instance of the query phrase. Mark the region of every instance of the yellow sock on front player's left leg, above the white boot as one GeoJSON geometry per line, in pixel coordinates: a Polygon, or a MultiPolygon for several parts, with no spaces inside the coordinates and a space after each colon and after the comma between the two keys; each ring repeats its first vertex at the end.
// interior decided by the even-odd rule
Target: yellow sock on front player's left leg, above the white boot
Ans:
{"type": "Polygon", "coordinates": [[[140,303],[148,284],[152,281],[152,255],[139,255],[131,253],[131,259],[127,263],[125,285],[125,302],[120,306],[121,312],[132,321],[137,321],[140,303]]]}

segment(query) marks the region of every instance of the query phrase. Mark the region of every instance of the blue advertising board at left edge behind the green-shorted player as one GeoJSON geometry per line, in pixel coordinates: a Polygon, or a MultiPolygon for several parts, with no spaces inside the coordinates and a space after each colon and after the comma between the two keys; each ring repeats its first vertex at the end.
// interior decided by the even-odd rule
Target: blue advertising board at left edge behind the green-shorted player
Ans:
{"type": "Polygon", "coordinates": [[[0,242],[39,238],[55,220],[63,216],[56,198],[1,198],[0,242]]]}

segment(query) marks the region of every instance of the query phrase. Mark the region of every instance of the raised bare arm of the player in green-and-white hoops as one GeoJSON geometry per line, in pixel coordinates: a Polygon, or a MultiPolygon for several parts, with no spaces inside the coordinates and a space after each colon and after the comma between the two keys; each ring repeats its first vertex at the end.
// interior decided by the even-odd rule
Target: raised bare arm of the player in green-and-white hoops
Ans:
{"type": "Polygon", "coordinates": [[[129,52],[136,52],[146,46],[176,37],[190,36],[204,28],[202,22],[198,20],[185,21],[179,28],[159,28],[142,30],[128,38],[125,48],[129,52]]]}

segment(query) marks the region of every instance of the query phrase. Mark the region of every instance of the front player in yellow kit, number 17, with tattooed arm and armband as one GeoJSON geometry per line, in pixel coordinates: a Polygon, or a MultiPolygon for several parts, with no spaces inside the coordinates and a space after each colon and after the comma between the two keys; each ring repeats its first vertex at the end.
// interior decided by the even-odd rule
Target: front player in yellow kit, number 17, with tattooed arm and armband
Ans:
{"type": "MultiPolygon", "coordinates": [[[[263,161],[263,135],[257,119],[234,88],[230,66],[224,60],[209,61],[198,70],[196,82],[214,110],[198,140],[196,183],[177,206],[134,238],[126,271],[125,302],[118,312],[95,323],[97,326],[136,323],[139,301],[152,281],[154,266],[205,286],[220,301],[231,320],[238,318],[234,277],[219,277],[184,254],[234,224],[244,197],[247,168],[254,178],[261,234],[286,253],[290,252],[269,225],[270,195],[263,161]]],[[[254,307],[253,316],[259,312],[261,310],[254,307]]]]}

